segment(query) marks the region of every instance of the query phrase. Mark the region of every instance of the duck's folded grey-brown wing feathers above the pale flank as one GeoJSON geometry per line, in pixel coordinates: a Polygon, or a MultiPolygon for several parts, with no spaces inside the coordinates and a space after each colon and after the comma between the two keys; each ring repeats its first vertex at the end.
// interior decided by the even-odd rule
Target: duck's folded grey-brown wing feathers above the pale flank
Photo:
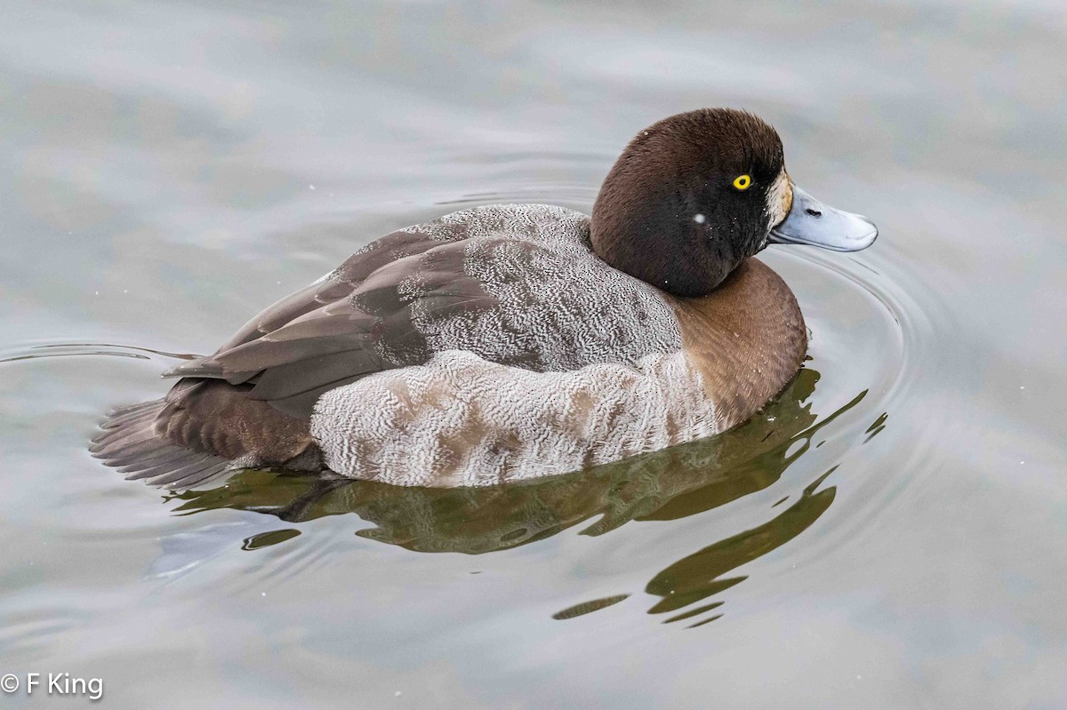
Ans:
{"type": "Polygon", "coordinates": [[[428,360],[415,310],[440,318],[496,304],[463,271],[465,241],[411,231],[382,238],[264,310],[213,355],[164,376],[249,384],[244,397],[306,419],[328,389],[428,360]]]}

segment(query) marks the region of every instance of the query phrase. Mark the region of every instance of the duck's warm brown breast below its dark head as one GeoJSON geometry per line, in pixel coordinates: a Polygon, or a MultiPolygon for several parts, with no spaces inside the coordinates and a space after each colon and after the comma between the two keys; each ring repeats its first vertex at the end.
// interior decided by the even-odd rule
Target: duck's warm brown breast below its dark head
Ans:
{"type": "Polygon", "coordinates": [[[785,281],[758,259],[746,259],[705,296],[665,296],[723,427],[751,417],[800,369],[808,350],[800,307],[785,281]]]}

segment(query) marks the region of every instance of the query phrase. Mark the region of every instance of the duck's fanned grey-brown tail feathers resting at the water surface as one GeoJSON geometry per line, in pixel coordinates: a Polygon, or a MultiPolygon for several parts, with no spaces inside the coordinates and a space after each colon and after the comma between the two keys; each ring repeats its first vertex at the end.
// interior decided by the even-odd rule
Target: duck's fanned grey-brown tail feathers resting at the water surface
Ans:
{"type": "Polygon", "coordinates": [[[226,458],[175,446],[156,433],[156,417],[165,404],[160,399],[111,410],[90,453],[127,479],[169,488],[191,488],[228,474],[226,458]]]}

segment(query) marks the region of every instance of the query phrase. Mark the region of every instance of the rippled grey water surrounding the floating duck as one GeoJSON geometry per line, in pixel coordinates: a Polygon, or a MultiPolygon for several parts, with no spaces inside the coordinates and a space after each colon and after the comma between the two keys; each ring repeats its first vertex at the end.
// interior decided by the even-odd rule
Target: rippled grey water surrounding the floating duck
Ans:
{"type": "Polygon", "coordinates": [[[128,708],[1064,707],[1065,47],[1058,2],[7,2],[0,674],[128,708]],[[748,424],[480,491],[175,496],[86,453],[376,237],[588,211],[702,106],[881,229],[763,255],[811,360],[748,424]]]}

